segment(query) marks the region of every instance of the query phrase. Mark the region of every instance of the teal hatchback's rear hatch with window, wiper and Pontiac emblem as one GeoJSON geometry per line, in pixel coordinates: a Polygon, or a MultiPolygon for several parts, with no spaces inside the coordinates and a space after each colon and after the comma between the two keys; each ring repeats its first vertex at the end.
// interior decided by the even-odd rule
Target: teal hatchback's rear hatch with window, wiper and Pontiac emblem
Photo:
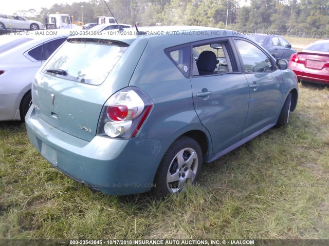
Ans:
{"type": "Polygon", "coordinates": [[[33,81],[36,114],[51,127],[90,141],[105,101],[129,85],[147,38],[71,37],[33,81]]]}

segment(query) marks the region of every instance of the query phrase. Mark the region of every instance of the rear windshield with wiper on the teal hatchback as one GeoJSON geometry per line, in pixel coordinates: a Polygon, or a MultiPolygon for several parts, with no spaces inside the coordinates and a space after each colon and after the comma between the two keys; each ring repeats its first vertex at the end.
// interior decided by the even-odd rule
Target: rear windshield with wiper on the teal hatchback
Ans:
{"type": "Polygon", "coordinates": [[[64,79],[100,85],[128,47],[126,43],[114,40],[71,38],[50,58],[42,71],[64,79]]]}

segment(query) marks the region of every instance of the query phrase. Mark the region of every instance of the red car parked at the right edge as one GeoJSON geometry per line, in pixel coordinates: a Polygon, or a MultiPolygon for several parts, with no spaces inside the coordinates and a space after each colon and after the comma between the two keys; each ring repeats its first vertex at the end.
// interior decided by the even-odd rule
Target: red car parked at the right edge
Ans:
{"type": "Polygon", "coordinates": [[[299,80],[329,83],[329,40],[319,40],[307,46],[302,52],[292,54],[288,67],[299,80]]]}

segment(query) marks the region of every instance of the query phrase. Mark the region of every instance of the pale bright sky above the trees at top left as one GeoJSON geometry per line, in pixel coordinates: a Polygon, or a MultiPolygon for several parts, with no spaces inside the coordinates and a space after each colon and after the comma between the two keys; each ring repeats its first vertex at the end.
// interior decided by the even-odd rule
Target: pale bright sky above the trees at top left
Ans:
{"type": "MultiPolygon", "coordinates": [[[[79,0],[2,0],[0,13],[1,14],[13,14],[19,10],[29,10],[35,9],[36,11],[40,11],[42,7],[50,8],[54,4],[69,4],[79,3],[79,0]]],[[[81,1],[87,2],[87,1],[81,1]]]]}

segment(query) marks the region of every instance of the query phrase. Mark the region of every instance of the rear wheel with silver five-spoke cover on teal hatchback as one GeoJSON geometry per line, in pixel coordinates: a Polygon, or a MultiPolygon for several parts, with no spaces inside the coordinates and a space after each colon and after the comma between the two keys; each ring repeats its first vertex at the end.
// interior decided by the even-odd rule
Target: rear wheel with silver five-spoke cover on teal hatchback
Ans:
{"type": "Polygon", "coordinates": [[[197,180],[202,167],[202,151],[190,137],[180,137],[163,156],[155,176],[154,194],[164,197],[180,192],[185,183],[197,180]]]}

